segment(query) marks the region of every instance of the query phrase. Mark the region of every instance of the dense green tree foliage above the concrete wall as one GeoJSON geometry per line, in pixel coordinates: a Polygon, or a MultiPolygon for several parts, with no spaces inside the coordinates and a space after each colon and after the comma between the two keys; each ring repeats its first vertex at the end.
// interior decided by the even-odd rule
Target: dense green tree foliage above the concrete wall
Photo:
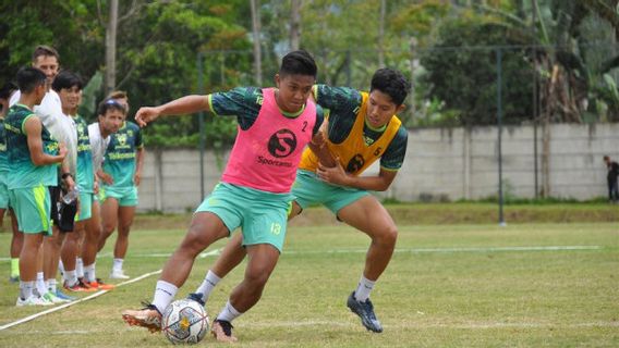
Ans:
{"type": "MultiPolygon", "coordinates": [[[[133,112],[187,94],[257,85],[250,1],[119,3],[116,88],[129,91],[133,112]]],[[[290,48],[292,9],[290,1],[258,3],[262,84],[270,86],[290,48]]],[[[497,48],[507,122],[533,120],[534,92],[538,114],[553,122],[619,121],[617,0],[300,3],[300,42],[315,54],[319,82],[367,89],[380,62],[399,69],[414,82],[411,108],[402,115],[409,126],[494,124],[497,48]]],[[[95,102],[105,97],[109,5],[105,0],[2,2],[0,83],[29,63],[36,45],[52,45],[62,66],[89,82],[82,112],[94,117],[95,102]]],[[[205,122],[208,147],[231,142],[234,120],[206,115],[205,122]]],[[[148,146],[195,147],[198,117],[159,122],[145,137],[148,146]]]]}

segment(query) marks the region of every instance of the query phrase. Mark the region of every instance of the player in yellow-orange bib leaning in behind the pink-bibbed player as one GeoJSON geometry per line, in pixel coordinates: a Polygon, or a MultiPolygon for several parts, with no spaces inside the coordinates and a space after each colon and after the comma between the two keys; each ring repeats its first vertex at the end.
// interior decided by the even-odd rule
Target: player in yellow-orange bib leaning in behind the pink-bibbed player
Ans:
{"type": "MultiPolygon", "coordinates": [[[[404,76],[391,69],[376,71],[369,94],[348,87],[315,86],[316,102],[329,110],[327,149],[337,165],[319,164],[316,154],[305,149],[292,188],[295,201],[290,219],[308,206],[323,204],[340,221],[372,238],[363,274],[347,306],[367,330],[376,333],[383,332],[383,325],[376,319],[369,293],[391,259],[398,228],[368,190],[389,188],[404,161],[408,132],[396,114],[404,109],[409,89],[404,76]],[[360,176],[378,159],[377,175],[360,176]]],[[[241,236],[235,236],[226,246],[197,296],[206,301],[221,277],[243,260],[241,244],[241,236]]]]}

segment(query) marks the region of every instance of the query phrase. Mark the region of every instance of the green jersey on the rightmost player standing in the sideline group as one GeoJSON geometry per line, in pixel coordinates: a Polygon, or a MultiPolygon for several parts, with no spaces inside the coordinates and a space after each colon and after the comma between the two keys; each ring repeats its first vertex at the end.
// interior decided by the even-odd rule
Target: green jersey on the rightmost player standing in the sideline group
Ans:
{"type": "Polygon", "coordinates": [[[143,146],[139,127],[133,122],[125,122],[116,134],[110,135],[104,172],[112,176],[112,187],[134,186],[133,176],[137,164],[135,157],[143,146]]]}

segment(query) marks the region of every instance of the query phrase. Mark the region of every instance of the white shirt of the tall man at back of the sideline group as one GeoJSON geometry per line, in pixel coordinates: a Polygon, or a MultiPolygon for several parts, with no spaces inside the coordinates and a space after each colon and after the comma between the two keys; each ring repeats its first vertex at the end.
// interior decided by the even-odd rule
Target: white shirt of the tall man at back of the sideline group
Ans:
{"type": "MultiPolygon", "coordinates": [[[[17,90],[11,96],[9,103],[11,105],[17,103],[21,96],[22,94],[17,90]]],[[[60,96],[54,90],[49,90],[45,94],[41,103],[35,105],[34,111],[51,136],[66,147],[64,163],[69,165],[69,171],[75,177],[75,169],[77,166],[77,127],[73,117],[62,113],[60,96]]]]}

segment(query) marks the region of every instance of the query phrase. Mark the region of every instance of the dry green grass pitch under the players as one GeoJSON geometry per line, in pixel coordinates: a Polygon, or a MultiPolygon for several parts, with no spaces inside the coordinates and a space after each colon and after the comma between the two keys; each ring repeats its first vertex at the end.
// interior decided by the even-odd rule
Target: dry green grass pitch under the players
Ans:
{"type": "MultiPolygon", "coordinates": [[[[126,272],[159,270],[184,229],[136,229],[126,272]]],[[[9,234],[0,244],[9,245],[9,234]]],[[[618,347],[619,225],[610,223],[412,225],[372,295],[385,332],[366,332],[345,307],[368,239],[341,224],[290,227],[263,299],[235,322],[239,347],[618,347]]],[[[222,247],[222,241],[207,251],[222,247]]],[[[108,245],[97,262],[111,266],[108,245]]],[[[204,254],[179,295],[193,291],[204,254]]],[[[15,308],[0,262],[0,326],[47,308],[15,308]]],[[[211,318],[241,279],[238,269],[207,303],[211,318]]],[[[0,347],[163,347],[120,312],[150,300],[157,275],[0,331],[0,347]]],[[[87,295],[81,295],[85,297],[87,295]]],[[[202,346],[218,345],[208,336],[202,346]]]]}

